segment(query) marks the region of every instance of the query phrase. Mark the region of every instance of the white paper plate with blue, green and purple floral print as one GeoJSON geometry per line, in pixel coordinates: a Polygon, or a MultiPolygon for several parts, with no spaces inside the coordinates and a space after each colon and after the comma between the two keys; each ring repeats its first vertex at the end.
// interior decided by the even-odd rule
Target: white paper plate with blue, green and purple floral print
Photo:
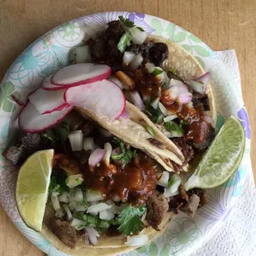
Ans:
{"type": "MultiPolygon", "coordinates": [[[[73,21],[68,21],[30,45],[8,69],[0,86],[0,151],[12,138],[17,127],[17,116],[21,107],[12,99],[12,94],[24,101],[42,80],[68,64],[69,49],[78,45],[85,35],[90,21],[104,25],[118,19],[118,16],[129,17],[135,24],[156,36],[173,40],[194,55],[201,65],[211,71],[211,84],[218,111],[217,130],[225,118],[236,116],[242,121],[246,135],[244,159],[232,178],[221,187],[207,191],[208,205],[197,211],[192,219],[180,214],[168,225],[164,235],[151,244],[123,255],[185,255],[199,248],[220,227],[229,215],[237,197],[242,191],[247,171],[246,157],[249,156],[249,120],[244,108],[241,89],[234,87],[234,77],[220,61],[218,55],[204,44],[197,36],[183,28],[142,13],[102,12],[73,21]]],[[[239,76],[239,73],[237,74],[239,76]]],[[[26,235],[39,249],[49,255],[66,255],[55,249],[47,239],[26,227],[17,211],[14,197],[17,170],[0,156],[0,201],[8,216],[17,228],[26,235]]]]}

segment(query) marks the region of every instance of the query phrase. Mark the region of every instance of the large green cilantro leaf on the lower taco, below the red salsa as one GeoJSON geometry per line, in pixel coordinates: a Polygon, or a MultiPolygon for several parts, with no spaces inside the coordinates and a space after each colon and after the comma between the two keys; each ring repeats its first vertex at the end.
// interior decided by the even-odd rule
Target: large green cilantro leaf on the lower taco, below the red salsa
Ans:
{"type": "Polygon", "coordinates": [[[116,218],[116,222],[119,225],[118,230],[125,235],[135,234],[140,232],[144,228],[143,222],[140,220],[140,216],[145,213],[145,206],[135,207],[128,206],[121,211],[116,218]]]}

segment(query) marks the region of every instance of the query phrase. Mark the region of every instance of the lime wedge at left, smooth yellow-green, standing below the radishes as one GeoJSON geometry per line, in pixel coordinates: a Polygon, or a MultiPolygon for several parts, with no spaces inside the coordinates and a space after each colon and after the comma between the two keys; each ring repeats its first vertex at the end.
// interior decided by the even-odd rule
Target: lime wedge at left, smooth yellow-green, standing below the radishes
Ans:
{"type": "Polygon", "coordinates": [[[17,178],[16,201],[21,218],[38,232],[42,229],[54,152],[47,149],[32,154],[17,178]]]}

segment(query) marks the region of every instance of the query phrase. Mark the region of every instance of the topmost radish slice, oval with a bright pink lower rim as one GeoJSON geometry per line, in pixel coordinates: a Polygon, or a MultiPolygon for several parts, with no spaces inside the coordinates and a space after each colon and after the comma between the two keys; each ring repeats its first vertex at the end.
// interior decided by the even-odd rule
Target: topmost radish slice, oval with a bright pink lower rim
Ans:
{"type": "Polygon", "coordinates": [[[74,87],[85,83],[94,83],[108,78],[111,67],[104,64],[79,63],[57,71],[51,78],[51,83],[60,87],[74,87]]]}

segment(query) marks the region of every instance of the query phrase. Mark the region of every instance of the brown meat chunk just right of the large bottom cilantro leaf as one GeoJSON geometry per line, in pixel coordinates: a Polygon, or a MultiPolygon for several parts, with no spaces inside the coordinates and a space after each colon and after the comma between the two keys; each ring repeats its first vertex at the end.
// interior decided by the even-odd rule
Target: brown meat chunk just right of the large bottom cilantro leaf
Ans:
{"type": "Polygon", "coordinates": [[[154,230],[159,230],[159,225],[168,211],[168,201],[164,195],[156,196],[155,194],[146,201],[147,216],[146,220],[149,222],[154,230]]]}

